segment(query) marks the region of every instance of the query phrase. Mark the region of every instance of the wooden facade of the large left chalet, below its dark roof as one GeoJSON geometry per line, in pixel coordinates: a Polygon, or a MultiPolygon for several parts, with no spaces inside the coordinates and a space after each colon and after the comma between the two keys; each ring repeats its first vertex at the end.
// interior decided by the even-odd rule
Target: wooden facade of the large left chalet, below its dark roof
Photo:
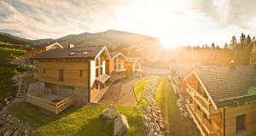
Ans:
{"type": "MultiPolygon", "coordinates": [[[[74,50],[76,49],[74,48],[74,50]]],[[[90,103],[90,99],[97,97],[93,96],[95,94],[93,91],[104,88],[105,82],[109,78],[105,72],[106,61],[110,59],[108,50],[103,47],[101,51],[97,52],[99,53],[94,52],[94,58],[88,59],[76,57],[47,59],[47,56],[46,58],[35,59],[34,64],[38,72],[35,73],[34,78],[39,82],[44,82],[45,92],[62,97],[72,95],[75,104],[79,105],[90,103]]],[[[80,53],[71,52],[69,56],[74,54],[80,53]]],[[[82,52],[82,54],[90,53],[82,52]]],[[[34,99],[30,99],[30,101],[32,100],[34,99]]]]}

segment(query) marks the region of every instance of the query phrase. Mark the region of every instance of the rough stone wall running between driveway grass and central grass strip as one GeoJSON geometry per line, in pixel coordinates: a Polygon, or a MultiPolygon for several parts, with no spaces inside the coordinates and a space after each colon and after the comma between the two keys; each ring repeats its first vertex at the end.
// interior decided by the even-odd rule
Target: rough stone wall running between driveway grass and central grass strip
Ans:
{"type": "Polygon", "coordinates": [[[143,90],[143,96],[147,100],[147,105],[143,108],[143,123],[147,136],[167,136],[168,131],[163,123],[161,111],[155,102],[155,89],[160,78],[151,80],[148,86],[143,90]]]}

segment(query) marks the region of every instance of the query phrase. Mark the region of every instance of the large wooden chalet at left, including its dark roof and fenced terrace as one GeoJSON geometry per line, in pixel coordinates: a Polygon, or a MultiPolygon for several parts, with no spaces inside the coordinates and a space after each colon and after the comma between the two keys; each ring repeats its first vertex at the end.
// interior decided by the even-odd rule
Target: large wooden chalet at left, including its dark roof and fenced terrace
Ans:
{"type": "Polygon", "coordinates": [[[96,97],[93,96],[96,91],[105,88],[105,82],[110,77],[105,72],[106,61],[110,59],[105,46],[56,48],[38,54],[33,59],[38,69],[34,78],[44,83],[44,89],[28,94],[27,101],[44,109],[49,105],[57,105],[55,102],[59,102],[60,98],[71,96],[75,104],[86,105],[96,97]]]}

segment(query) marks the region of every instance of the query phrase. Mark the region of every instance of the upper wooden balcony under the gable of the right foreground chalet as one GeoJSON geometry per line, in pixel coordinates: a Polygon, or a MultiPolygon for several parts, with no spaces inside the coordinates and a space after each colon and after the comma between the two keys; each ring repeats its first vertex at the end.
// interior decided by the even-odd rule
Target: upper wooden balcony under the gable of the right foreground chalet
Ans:
{"type": "Polygon", "coordinates": [[[207,116],[214,116],[220,113],[220,111],[216,111],[212,106],[211,102],[207,100],[207,98],[203,97],[194,88],[187,84],[186,92],[189,96],[195,101],[197,105],[200,106],[201,110],[204,111],[207,116]]]}

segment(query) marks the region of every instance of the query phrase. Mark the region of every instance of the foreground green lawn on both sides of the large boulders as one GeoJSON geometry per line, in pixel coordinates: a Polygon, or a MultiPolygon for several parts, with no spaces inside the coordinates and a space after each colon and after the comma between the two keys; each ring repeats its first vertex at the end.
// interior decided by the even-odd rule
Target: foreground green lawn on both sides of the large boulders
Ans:
{"type": "MultiPolygon", "coordinates": [[[[107,105],[71,106],[59,115],[49,114],[26,103],[15,103],[9,112],[28,123],[31,133],[47,136],[110,136],[113,122],[105,122],[99,116],[107,105]]],[[[117,107],[130,124],[125,136],[143,136],[143,121],[140,111],[131,107],[117,107]]]]}

